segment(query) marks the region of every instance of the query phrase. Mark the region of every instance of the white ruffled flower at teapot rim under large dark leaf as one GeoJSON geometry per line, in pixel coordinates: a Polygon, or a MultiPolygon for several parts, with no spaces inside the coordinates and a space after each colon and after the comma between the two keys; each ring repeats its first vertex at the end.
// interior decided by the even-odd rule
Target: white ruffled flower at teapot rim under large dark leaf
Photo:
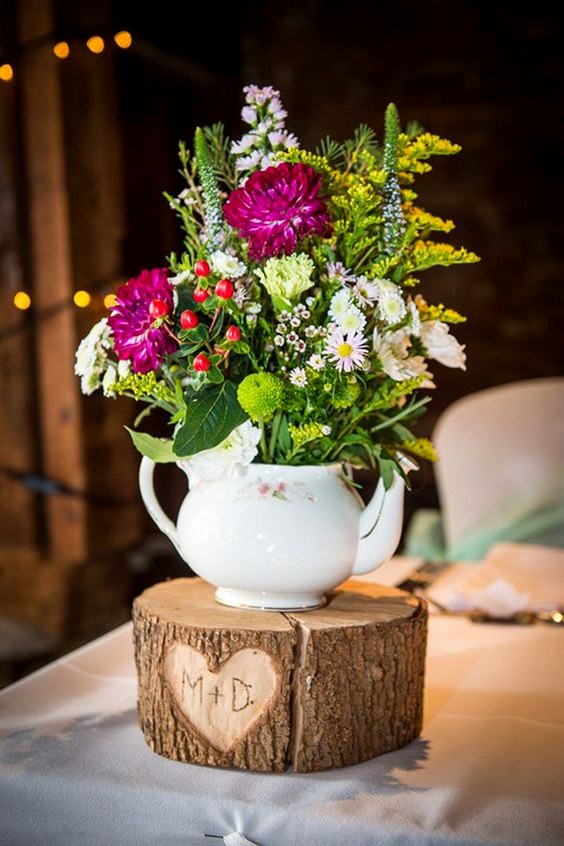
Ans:
{"type": "Polygon", "coordinates": [[[260,429],[246,420],[218,446],[176,463],[188,474],[191,485],[240,476],[258,453],[260,437],[260,429]]]}

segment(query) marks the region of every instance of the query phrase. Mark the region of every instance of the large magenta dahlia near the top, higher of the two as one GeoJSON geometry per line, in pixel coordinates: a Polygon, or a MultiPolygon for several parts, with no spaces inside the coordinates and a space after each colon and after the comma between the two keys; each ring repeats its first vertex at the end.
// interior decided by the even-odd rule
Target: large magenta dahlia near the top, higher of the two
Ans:
{"type": "Polygon", "coordinates": [[[253,173],[229,195],[225,220],[249,239],[249,257],[289,255],[298,238],[323,235],[329,214],[318,197],[321,177],[310,165],[283,162],[253,173]]]}

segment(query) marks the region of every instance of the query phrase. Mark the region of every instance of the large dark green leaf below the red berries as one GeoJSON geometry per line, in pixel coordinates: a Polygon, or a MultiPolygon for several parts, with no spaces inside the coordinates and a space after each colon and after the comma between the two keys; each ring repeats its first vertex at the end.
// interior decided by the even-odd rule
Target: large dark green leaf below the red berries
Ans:
{"type": "Polygon", "coordinates": [[[186,422],[176,433],[174,451],[184,457],[211,449],[245,420],[247,415],[237,400],[236,385],[212,385],[187,404],[186,422]]]}

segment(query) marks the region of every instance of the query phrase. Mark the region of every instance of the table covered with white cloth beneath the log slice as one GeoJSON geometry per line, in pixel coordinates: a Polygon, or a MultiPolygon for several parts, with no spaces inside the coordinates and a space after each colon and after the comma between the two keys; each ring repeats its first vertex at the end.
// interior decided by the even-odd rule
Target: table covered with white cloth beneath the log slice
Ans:
{"type": "Polygon", "coordinates": [[[564,632],[430,623],[419,740],[271,775],[168,761],[136,723],[129,624],[0,693],[3,846],[562,846],[564,632]]]}

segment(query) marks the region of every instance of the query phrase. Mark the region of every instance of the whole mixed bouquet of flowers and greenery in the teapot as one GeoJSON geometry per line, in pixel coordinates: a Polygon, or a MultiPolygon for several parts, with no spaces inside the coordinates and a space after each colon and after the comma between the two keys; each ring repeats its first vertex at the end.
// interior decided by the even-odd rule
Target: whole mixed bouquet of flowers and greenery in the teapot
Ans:
{"type": "Polygon", "coordinates": [[[465,369],[449,324],[465,318],[416,293],[417,274],[478,257],[434,239],[454,224],[417,205],[415,176],[459,147],[391,104],[383,140],[361,125],[344,143],[300,149],[271,87],[244,89],[241,139],[222,124],[180,145],[186,187],[165,195],[184,233],[166,268],[117,292],[81,342],[86,394],[145,404],[130,430],[155,461],[220,478],[253,460],[379,466],[433,459],[411,425],[434,388],[430,362],[465,369]],[[137,430],[154,408],[167,440],[137,430]]]}

